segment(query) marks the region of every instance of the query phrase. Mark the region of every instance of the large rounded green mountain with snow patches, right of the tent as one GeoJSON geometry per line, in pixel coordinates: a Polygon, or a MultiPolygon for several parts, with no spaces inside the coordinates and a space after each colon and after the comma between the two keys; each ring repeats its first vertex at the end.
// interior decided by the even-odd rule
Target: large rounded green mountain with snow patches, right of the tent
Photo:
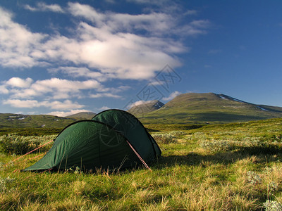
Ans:
{"type": "Polygon", "coordinates": [[[256,105],[224,94],[180,94],[159,110],[140,117],[143,123],[205,124],[282,117],[282,108],[256,105]]]}

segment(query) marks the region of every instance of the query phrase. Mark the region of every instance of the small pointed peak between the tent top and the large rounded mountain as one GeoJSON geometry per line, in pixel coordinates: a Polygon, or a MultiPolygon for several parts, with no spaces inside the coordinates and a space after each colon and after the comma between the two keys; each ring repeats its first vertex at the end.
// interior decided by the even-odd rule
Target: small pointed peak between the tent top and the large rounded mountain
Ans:
{"type": "Polygon", "coordinates": [[[132,113],[133,115],[136,115],[137,117],[140,117],[142,115],[145,115],[146,113],[152,112],[154,110],[158,110],[163,106],[164,103],[161,103],[160,101],[147,101],[140,105],[133,106],[128,110],[128,112],[132,113]]]}

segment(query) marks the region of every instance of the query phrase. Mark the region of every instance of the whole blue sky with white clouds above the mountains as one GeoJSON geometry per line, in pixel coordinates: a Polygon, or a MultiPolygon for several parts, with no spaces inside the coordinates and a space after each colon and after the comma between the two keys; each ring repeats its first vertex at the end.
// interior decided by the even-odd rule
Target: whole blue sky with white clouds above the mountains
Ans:
{"type": "Polygon", "coordinates": [[[0,2],[0,113],[214,92],[282,106],[282,1],[0,2]]]}

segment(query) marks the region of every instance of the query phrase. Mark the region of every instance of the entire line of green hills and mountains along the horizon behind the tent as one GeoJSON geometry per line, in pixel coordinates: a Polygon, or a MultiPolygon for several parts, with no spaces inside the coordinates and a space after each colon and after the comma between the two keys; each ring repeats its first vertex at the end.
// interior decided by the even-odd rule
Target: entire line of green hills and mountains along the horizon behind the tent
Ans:
{"type": "MultiPolygon", "coordinates": [[[[150,101],[130,109],[133,110],[128,112],[133,113],[143,124],[217,124],[282,117],[282,107],[248,103],[225,94],[214,93],[180,94],[166,104],[150,101]]],[[[0,113],[0,128],[66,127],[78,120],[89,120],[94,115],[94,113],[77,113],[58,117],[0,113]]]]}

